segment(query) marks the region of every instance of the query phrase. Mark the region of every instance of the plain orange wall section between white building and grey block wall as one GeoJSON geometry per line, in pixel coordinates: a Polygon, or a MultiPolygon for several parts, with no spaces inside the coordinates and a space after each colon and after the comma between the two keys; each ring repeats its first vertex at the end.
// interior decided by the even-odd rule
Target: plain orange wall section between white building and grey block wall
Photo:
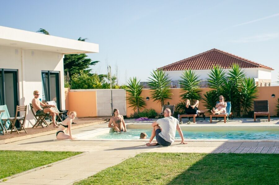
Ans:
{"type": "Polygon", "coordinates": [[[76,111],[78,117],[97,116],[96,91],[68,92],[69,111],[76,111]]]}

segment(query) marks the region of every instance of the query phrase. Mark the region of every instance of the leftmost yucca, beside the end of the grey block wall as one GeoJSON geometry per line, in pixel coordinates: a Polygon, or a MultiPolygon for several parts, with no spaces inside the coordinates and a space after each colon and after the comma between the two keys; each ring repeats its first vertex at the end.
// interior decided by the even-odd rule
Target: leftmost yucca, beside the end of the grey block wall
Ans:
{"type": "Polygon", "coordinates": [[[136,77],[130,78],[128,82],[128,87],[126,88],[127,97],[126,101],[130,104],[129,107],[133,107],[133,110],[137,110],[139,113],[139,109],[142,109],[146,106],[144,101],[144,97],[140,96],[143,90],[143,85],[139,83],[136,77]]]}

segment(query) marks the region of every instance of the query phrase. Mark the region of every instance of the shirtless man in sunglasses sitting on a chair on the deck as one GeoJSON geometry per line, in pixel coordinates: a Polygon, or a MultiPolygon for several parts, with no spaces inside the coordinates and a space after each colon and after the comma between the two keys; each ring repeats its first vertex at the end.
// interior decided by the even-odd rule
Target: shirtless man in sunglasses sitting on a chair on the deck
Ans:
{"type": "Polygon", "coordinates": [[[58,116],[59,114],[56,113],[55,111],[53,111],[51,108],[42,109],[42,107],[41,107],[41,106],[43,106],[43,107],[55,107],[55,106],[40,102],[40,100],[38,99],[39,95],[40,95],[38,90],[34,90],[33,95],[34,95],[34,98],[32,99],[32,105],[36,112],[36,115],[41,116],[41,115],[47,114],[47,112],[50,112],[49,115],[51,116],[51,119],[53,122],[53,127],[58,127],[58,125],[56,124],[55,118],[56,118],[56,115],[58,116]]]}

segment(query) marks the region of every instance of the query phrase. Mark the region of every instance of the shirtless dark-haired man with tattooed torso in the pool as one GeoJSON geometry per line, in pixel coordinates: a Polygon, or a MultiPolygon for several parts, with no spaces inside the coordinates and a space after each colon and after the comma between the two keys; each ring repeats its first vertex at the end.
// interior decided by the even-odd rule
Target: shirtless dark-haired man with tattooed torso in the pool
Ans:
{"type": "Polygon", "coordinates": [[[122,115],[119,115],[119,110],[113,110],[113,117],[108,122],[108,127],[113,128],[114,132],[126,132],[126,124],[122,115]]]}

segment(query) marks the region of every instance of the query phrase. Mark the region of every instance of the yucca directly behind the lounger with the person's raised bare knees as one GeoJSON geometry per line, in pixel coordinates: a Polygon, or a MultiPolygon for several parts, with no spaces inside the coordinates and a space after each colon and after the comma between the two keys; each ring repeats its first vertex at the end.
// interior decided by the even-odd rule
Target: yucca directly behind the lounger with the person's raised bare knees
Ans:
{"type": "Polygon", "coordinates": [[[191,105],[193,105],[193,100],[200,100],[201,99],[201,89],[199,85],[199,78],[195,71],[191,69],[185,70],[180,76],[181,80],[179,80],[180,87],[184,94],[180,95],[183,100],[189,99],[191,101],[191,105]]]}

